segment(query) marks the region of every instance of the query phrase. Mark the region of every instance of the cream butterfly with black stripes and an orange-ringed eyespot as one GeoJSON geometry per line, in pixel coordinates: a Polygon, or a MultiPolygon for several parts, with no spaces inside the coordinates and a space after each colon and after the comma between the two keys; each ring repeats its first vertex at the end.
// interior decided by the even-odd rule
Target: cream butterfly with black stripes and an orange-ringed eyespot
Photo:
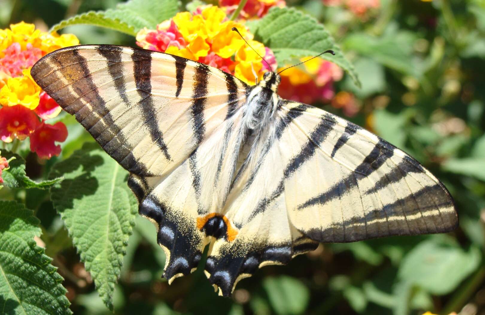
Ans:
{"type": "Polygon", "coordinates": [[[453,199],[412,157],[364,128],[182,57],[66,47],[32,78],[129,171],[171,283],[197,267],[229,296],[242,278],[320,242],[449,232],[453,199]]]}

